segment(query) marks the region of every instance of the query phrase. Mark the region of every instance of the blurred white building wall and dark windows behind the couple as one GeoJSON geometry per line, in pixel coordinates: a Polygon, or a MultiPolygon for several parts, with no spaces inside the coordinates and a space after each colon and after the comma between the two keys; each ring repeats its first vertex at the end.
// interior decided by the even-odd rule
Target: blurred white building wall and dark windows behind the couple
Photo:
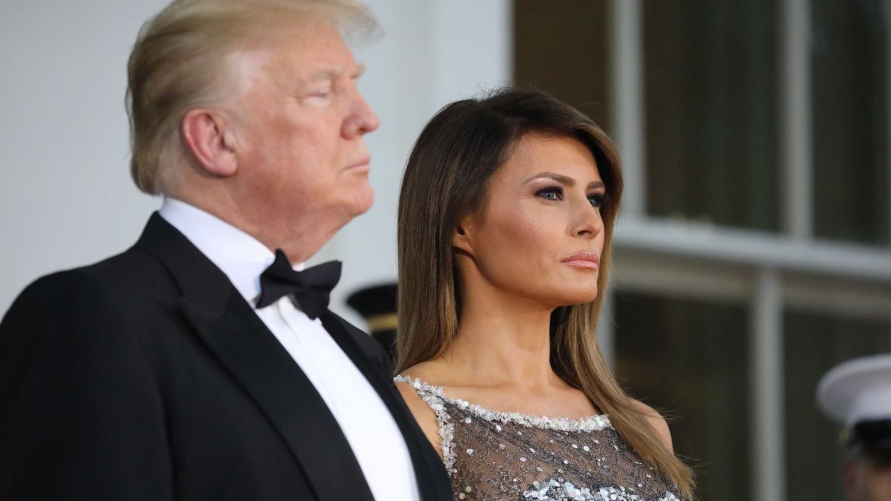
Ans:
{"type": "MultiPolygon", "coordinates": [[[[333,308],[396,277],[396,197],[441,106],[517,82],[599,121],[625,161],[601,346],[674,415],[704,501],[840,499],[816,382],[891,351],[891,2],[370,0],[377,201],[314,260],[333,308]]],[[[135,242],[125,65],[163,0],[0,0],[0,309],[135,242]]]]}

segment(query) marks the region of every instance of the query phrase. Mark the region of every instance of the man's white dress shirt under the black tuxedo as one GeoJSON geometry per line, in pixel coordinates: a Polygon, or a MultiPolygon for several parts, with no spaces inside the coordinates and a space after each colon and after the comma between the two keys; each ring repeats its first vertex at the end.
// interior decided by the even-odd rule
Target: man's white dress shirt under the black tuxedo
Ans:
{"type": "MultiPolygon", "coordinates": [[[[165,198],[159,213],[229,277],[251,306],[257,304],[260,275],[275,259],[271,250],[184,201],[165,198]]],[[[298,271],[303,268],[303,264],[294,267],[298,271]]],[[[396,421],[322,322],[310,320],[289,297],[254,311],[331,409],[374,498],[419,500],[412,458],[396,421]]]]}

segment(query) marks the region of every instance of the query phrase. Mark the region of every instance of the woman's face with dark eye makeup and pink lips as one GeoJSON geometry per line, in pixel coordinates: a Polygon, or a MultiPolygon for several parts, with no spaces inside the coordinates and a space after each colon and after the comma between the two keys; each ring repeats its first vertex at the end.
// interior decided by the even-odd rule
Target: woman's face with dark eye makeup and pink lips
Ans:
{"type": "Polygon", "coordinates": [[[455,247],[497,290],[548,308],[594,300],[605,193],[583,144],[525,136],[492,178],[482,220],[462,221],[455,247]]]}

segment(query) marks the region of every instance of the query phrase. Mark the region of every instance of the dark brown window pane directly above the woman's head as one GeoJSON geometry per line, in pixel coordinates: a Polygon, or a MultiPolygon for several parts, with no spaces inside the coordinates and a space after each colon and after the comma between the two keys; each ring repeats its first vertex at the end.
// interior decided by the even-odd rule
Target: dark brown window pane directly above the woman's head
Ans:
{"type": "Polygon", "coordinates": [[[514,81],[607,117],[607,0],[514,0],[514,81]]]}

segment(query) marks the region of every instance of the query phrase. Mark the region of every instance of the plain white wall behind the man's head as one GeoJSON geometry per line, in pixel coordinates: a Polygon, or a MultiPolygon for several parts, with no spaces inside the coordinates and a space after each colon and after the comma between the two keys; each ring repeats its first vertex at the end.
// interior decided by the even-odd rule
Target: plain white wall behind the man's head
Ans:
{"type": "MultiPolygon", "coordinates": [[[[129,178],[126,62],[163,0],[0,2],[0,312],[39,275],[135,242],[159,199],[129,178]]],[[[343,259],[333,308],[396,276],[396,197],[405,158],[441,106],[511,74],[509,0],[372,0],[385,36],[356,48],[380,115],[368,136],[372,209],[314,259],[343,259]]],[[[361,323],[360,323],[361,324],[361,323]]]]}

